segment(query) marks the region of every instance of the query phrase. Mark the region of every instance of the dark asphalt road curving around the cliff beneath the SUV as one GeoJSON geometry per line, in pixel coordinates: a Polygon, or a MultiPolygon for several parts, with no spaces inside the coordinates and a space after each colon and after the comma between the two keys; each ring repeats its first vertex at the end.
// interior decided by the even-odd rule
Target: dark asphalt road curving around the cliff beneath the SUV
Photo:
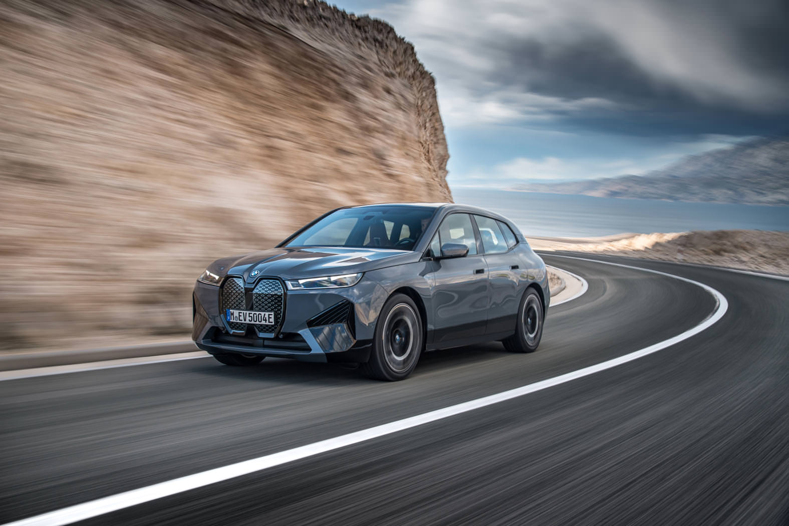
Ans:
{"type": "MultiPolygon", "coordinates": [[[[661,274],[544,259],[589,289],[530,355],[437,351],[396,383],[210,358],[0,382],[0,523],[553,379],[718,308],[661,274]]],[[[727,310],[617,367],[77,524],[789,524],[789,281],[595,259],[705,283],[727,310]]]]}

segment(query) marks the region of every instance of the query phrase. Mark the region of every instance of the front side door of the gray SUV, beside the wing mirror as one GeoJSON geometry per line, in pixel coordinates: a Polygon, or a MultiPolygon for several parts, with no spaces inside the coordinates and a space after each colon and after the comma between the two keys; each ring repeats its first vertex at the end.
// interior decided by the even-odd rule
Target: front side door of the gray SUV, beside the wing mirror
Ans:
{"type": "Polygon", "coordinates": [[[462,243],[467,256],[438,259],[433,264],[433,342],[451,341],[484,334],[488,320],[488,267],[477,247],[477,237],[468,214],[455,213],[443,219],[431,250],[439,252],[446,243],[462,243]]]}

